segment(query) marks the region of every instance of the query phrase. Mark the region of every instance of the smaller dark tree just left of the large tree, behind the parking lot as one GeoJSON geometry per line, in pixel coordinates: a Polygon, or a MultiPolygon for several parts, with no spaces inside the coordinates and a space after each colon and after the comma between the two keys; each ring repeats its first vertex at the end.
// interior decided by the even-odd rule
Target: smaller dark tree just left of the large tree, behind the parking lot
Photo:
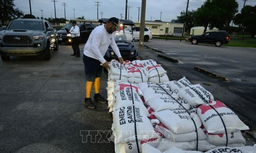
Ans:
{"type": "Polygon", "coordinates": [[[185,23],[186,27],[185,30],[187,30],[190,33],[190,29],[195,26],[195,11],[188,11],[187,17],[185,18],[186,12],[182,11],[180,13],[180,16],[177,16],[177,20],[175,22],[185,23]]]}

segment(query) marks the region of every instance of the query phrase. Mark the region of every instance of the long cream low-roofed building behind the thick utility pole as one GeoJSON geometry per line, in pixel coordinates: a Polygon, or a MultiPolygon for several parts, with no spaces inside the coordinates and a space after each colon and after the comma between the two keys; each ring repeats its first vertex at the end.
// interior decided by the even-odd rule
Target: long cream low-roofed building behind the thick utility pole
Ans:
{"type": "MultiPolygon", "coordinates": [[[[145,26],[151,29],[153,35],[181,36],[183,25],[184,23],[145,21],[145,26]]],[[[140,22],[136,22],[135,26],[140,26],[140,22]]]]}

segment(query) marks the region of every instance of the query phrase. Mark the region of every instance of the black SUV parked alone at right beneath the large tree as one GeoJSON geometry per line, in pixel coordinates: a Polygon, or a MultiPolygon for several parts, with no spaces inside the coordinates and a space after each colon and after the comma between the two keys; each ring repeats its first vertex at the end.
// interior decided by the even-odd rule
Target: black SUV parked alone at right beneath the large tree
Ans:
{"type": "Polygon", "coordinates": [[[190,36],[189,41],[192,44],[210,43],[221,47],[222,44],[229,43],[229,36],[226,32],[206,32],[202,35],[190,36]]]}

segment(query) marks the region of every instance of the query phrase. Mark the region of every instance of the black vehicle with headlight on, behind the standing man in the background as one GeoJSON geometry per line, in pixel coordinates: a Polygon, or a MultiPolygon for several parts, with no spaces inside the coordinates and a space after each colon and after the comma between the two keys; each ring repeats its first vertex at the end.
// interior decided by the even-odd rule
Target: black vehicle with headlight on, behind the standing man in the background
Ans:
{"type": "MultiPolygon", "coordinates": [[[[90,23],[77,23],[76,25],[80,28],[80,42],[87,41],[92,30],[96,27],[90,23]]],[[[72,23],[66,24],[58,31],[59,43],[72,43],[71,34],[67,34],[65,28],[70,30],[72,23]]]]}

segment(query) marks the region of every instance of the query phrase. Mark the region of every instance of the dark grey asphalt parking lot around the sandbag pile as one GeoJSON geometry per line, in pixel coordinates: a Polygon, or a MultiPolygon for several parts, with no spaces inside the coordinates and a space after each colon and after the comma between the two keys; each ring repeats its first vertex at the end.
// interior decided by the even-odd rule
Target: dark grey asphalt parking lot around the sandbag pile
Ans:
{"type": "MultiPolygon", "coordinates": [[[[135,45],[138,47],[138,42],[135,42],[135,45]]],[[[145,45],[162,50],[166,49],[163,51],[166,51],[167,55],[180,61],[178,64],[172,63],[157,57],[158,52],[146,48],[139,50],[141,57],[152,58],[162,64],[171,80],[185,76],[192,83],[209,83],[211,86],[204,85],[204,87],[212,92],[215,98],[228,104],[228,106],[232,106],[232,109],[239,115],[242,114],[241,117],[247,120],[246,123],[251,123],[251,125],[256,123],[254,120],[256,115],[254,102],[250,102],[242,96],[247,91],[237,91],[237,94],[231,88],[231,86],[235,88],[240,85],[241,88],[238,90],[248,86],[252,87],[252,93],[255,91],[255,79],[253,79],[256,68],[253,65],[253,57],[256,57],[255,49],[217,48],[170,40],[167,42],[150,40],[145,45]],[[166,47],[163,47],[164,45],[166,47]],[[247,55],[238,54],[239,50],[246,52],[247,55]],[[202,52],[204,54],[200,55],[202,52]],[[225,52],[231,52],[232,56],[225,56],[225,52]],[[215,62],[218,54],[219,60],[215,62]],[[249,60],[245,60],[245,56],[249,60]],[[239,60],[240,58],[241,60],[239,60]],[[230,64],[227,61],[233,61],[233,70],[230,70],[228,67],[230,64]],[[226,67],[217,66],[217,64],[221,65],[221,62],[226,67]],[[225,77],[230,79],[230,83],[224,83],[201,74],[193,70],[194,66],[207,69],[213,67],[212,70],[215,70],[216,73],[219,72],[220,75],[224,75],[226,72],[225,77]],[[218,71],[219,69],[222,71],[218,71]],[[229,72],[227,72],[228,69],[229,72]],[[241,70],[237,71],[237,69],[241,70]],[[242,72],[242,70],[246,70],[246,72],[242,72]],[[252,73],[247,70],[252,71],[252,73]],[[230,72],[233,73],[229,76],[230,72]],[[239,84],[239,81],[233,81],[235,80],[233,78],[240,78],[240,76],[248,80],[240,82],[248,84],[244,85],[239,84]],[[243,112],[245,109],[247,112],[243,112]],[[251,117],[248,119],[247,115],[251,115],[251,117]]],[[[81,55],[83,47],[84,44],[80,44],[81,55]]],[[[110,136],[107,131],[111,130],[113,121],[108,115],[107,104],[97,104],[95,110],[83,106],[85,79],[82,56],[76,58],[70,54],[72,54],[72,47],[63,44],[60,45],[59,51],[52,52],[50,61],[40,60],[40,58],[33,56],[11,57],[9,62],[0,61],[1,153],[114,152],[113,142],[94,143],[95,139],[98,141],[101,136],[110,136]],[[92,141],[90,137],[87,137],[88,141],[85,142],[86,137],[84,135],[87,134],[87,130],[100,130],[102,132],[96,137],[95,135],[92,136],[92,141]]],[[[106,82],[107,74],[103,73],[100,90],[105,98],[106,82]]],[[[250,99],[250,96],[248,97],[250,99]]],[[[252,100],[255,100],[253,95],[251,97],[252,100]]],[[[247,145],[253,142],[250,141],[247,145]]]]}

